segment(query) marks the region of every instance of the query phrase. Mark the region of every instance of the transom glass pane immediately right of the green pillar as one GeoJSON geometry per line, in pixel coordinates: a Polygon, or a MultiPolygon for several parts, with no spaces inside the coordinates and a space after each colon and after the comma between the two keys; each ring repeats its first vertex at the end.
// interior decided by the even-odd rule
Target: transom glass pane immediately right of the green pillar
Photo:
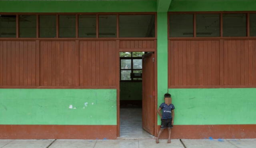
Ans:
{"type": "Polygon", "coordinates": [[[170,37],[193,37],[193,14],[171,14],[170,37]]]}

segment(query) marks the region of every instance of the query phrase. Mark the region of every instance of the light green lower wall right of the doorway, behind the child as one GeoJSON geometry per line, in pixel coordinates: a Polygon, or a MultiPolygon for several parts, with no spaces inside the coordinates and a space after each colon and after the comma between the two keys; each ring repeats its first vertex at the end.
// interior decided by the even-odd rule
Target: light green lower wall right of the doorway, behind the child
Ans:
{"type": "Polygon", "coordinates": [[[176,125],[256,124],[256,88],[169,89],[169,93],[176,125]]]}

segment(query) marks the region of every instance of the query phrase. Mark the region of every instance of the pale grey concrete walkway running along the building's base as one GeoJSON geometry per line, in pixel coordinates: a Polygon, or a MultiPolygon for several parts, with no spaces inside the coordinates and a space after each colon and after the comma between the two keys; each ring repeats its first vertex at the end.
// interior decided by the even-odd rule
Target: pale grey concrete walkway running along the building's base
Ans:
{"type": "Polygon", "coordinates": [[[256,139],[0,140],[0,148],[256,148],[256,139]]]}

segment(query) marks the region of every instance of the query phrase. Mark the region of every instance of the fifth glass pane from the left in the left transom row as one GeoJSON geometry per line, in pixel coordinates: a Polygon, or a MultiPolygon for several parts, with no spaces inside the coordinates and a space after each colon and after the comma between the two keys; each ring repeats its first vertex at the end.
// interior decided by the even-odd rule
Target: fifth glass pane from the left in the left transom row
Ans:
{"type": "Polygon", "coordinates": [[[79,37],[96,37],[96,15],[80,15],[78,19],[79,37]]]}

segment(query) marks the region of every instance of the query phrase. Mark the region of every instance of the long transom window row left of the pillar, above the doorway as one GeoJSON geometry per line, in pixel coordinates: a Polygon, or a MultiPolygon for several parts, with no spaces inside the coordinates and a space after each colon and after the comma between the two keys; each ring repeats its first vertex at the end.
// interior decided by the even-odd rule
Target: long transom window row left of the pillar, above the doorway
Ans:
{"type": "Polygon", "coordinates": [[[0,14],[0,37],[155,37],[155,13],[0,14]]]}

